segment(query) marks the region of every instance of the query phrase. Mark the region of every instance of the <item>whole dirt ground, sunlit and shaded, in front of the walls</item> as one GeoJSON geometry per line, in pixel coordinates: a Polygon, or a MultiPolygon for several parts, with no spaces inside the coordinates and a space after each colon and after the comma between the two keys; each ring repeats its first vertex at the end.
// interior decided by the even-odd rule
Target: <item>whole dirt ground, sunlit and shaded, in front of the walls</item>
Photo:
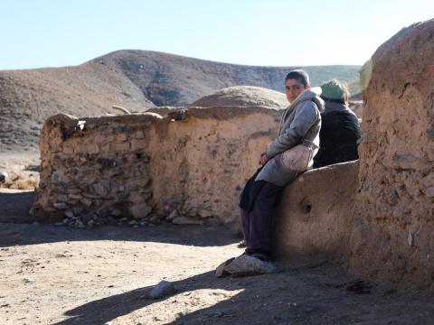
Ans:
{"type": "Polygon", "coordinates": [[[357,279],[327,259],[216,278],[217,265],[242,253],[226,228],[34,224],[33,200],[32,191],[0,190],[0,325],[434,323],[432,293],[357,279]],[[162,280],[175,293],[149,299],[162,280]]]}

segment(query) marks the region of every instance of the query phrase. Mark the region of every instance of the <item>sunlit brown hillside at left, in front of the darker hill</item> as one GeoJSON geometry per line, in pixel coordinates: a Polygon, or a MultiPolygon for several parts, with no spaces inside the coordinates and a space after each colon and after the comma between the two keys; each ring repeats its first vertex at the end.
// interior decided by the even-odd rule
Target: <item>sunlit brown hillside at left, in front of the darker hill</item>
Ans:
{"type": "Polygon", "coordinates": [[[155,107],[125,76],[94,63],[0,71],[0,153],[34,149],[48,116],[101,116],[114,104],[155,107]]]}

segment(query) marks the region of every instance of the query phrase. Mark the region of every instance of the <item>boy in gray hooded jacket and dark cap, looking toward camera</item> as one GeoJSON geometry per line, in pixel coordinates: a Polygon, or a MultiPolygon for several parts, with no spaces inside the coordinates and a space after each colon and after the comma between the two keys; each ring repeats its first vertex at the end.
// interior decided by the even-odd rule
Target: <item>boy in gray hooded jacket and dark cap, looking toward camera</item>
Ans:
{"type": "MultiPolygon", "coordinates": [[[[241,194],[241,222],[247,255],[270,261],[273,206],[283,188],[313,165],[319,147],[319,130],[324,102],[321,88],[311,88],[304,70],[292,70],[285,79],[289,106],[281,117],[278,136],[260,155],[262,166],[241,194]],[[289,149],[299,144],[311,149],[304,169],[292,167],[286,159],[289,149]]],[[[298,147],[300,148],[300,147],[298,147]]],[[[303,150],[303,148],[301,149],[303,150]]]]}

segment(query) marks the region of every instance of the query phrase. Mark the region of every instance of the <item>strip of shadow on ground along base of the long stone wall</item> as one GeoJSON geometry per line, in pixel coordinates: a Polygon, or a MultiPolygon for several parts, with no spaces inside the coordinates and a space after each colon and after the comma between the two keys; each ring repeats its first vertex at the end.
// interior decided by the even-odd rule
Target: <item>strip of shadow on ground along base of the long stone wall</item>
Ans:
{"type": "Polygon", "coordinates": [[[151,241],[188,246],[225,246],[241,240],[232,235],[228,228],[222,226],[164,224],[158,227],[102,226],[85,229],[56,227],[44,223],[36,226],[29,224],[34,221],[29,215],[33,200],[35,200],[34,191],[0,192],[0,246],[81,240],[151,241]],[[204,233],[206,236],[203,236],[204,233]]]}

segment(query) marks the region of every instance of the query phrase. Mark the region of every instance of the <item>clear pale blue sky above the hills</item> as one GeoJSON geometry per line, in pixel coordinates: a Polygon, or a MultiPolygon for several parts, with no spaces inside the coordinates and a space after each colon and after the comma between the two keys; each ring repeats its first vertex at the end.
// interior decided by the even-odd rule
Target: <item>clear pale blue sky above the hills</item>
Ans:
{"type": "Polygon", "coordinates": [[[163,51],[260,66],[362,65],[432,0],[0,0],[0,70],[163,51]]]}

